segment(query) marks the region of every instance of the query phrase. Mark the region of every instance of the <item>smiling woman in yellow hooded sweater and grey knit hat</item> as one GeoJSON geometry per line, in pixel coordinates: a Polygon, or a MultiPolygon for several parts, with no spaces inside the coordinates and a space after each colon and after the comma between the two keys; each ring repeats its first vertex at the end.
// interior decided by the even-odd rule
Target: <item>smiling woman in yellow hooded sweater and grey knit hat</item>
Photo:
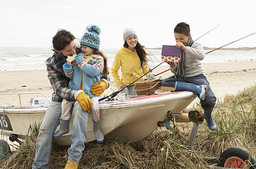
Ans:
{"type": "MultiPolygon", "coordinates": [[[[125,88],[123,91],[130,96],[136,96],[136,92],[132,91],[134,85],[128,86],[132,82],[136,81],[143,74],[149,72],[147,66],[147,54],[144,46],[140,45],[137,41],[137,33],[132,28],[124,29],[123,33],[124,47],[116,52],[114,62],[111,68],[111,74],[114,78],[116,86],[119,91],[125,88]],[[118,70],[121,66],[122,78],[120,79],[118,70]]],[[[146,77],[153,79],[154,75],[149,73],[146,77]]],[[[138,81],[142,81],[142,78],[138,81]]],[[[137,82],[138,82],[137,81],[137,82]]]]}

